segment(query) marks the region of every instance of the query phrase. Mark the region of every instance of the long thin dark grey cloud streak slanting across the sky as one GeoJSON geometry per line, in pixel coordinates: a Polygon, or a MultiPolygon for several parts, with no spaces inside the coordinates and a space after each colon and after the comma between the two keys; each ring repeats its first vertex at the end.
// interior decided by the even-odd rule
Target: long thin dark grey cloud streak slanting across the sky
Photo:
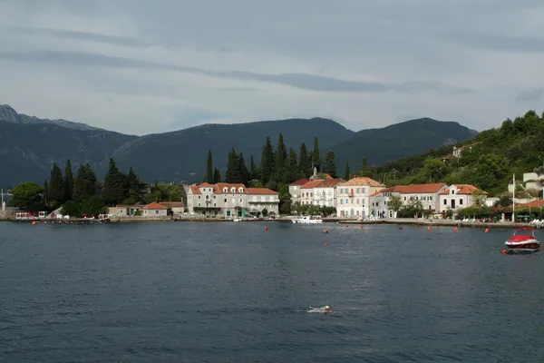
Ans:
{"type": "Polygon", "coordinates": [[[35,64],[72,64],[80,66],[108,66],[117,68],[141,68],[163,71],[176,71],[202,76],[237,79],[242,81],[257,81],[284,84],[308,91],[334,93],[383,93],[439,91],[446,93],[466,93],[471,90],[440,83],[407,82],[380,83],[347,81],[334,77],[316,74],[257,74],[243,71],[212,71],[197,67],[160,64],[129,58],[114,57],[102,54],[79,52],[36,51],[27,53],[0,52],[0,60],[35,63],[35,64]]]}

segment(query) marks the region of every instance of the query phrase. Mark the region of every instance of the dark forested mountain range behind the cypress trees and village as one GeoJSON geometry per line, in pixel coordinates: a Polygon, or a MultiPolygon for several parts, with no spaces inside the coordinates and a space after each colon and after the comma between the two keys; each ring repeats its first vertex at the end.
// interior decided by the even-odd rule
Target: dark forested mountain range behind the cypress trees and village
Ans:
{"type": "Polygon", "coordinates": [[[247,162],[253,155],[257,163],[266,138],[276,143],[279,132],[287,148],[292,147],[296,153],[301,142],[311,150],[317,136],[322,157],[327,150],[335,151],[339,171],[346,161],[352,170],[358,170],[363,157],[370,164],[381,164],[469,139],[477,133],[459,123],[430,118],[360,132],[333,120],[312,118],[204,124],[134,136],[85,123],[27,116],[0,105],[0,185],[9,187],[25,181],[41,184],[53,162],[63,168],[67,159],[72,161],[74,172],[80,164],[89,162],[102,177],[111,156],[122,171],[133,167],[145,182],[200,182],[206,172],[208,150],[214,167],[224,174],[232,147],[243,152],[247,162]]]}

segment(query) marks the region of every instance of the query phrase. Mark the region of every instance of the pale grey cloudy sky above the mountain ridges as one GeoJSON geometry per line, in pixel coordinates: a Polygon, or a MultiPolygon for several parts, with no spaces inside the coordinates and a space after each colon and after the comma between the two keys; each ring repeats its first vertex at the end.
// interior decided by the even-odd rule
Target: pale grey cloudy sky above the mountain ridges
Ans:
{"type": "Polygon", "coordinates": [[[0,104],[144,134],[544,109],[542,0],[0,0],[0,104]]]}

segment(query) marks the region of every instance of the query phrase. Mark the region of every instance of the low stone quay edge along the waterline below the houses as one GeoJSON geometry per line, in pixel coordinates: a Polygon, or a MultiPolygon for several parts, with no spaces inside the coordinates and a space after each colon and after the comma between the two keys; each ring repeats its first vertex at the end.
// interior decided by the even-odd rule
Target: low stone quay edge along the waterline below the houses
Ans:
{"type": "MultiPolygon", "coordinates": [[[[251,218],[243,219],[240,222],[291,222],[290,218],[277,218],[277,219],[263,219],[263,218],[251,218]]],[[[512,229],[512,228],[533,228],[535,230],[544,228],[544,226],[534,225],[530,223],[512,223],[510,221],[504,222],[479,222],[479,223],[463,223],[452,220],[413,220],[413,219],[391,219],[391,220],[378,220],[378,221],[355,221],[355,220],[345,220],[342,218],[331,217],[323,218],[323,223],[321,224],[345,224],[345,225],[411,225],[411,226],[422,226],[422,227],[459,227],[459,228],[493,228],[493,229],[512,229]]],[[[27,220],[16,220],[16,219],[0,219],[0,221],[14,221],[14,222],[25,222],[25,223],[51,223],[51,224],[97,224],[97,223],[129,223],[129,222],[231,222],[236,223],[232,220],[219,219],[219,218],[112,218],[108,220],[92,220],[92,219],[70,219],[70,220],[59,220],[59,219],[27,219],[27,220]]]]}

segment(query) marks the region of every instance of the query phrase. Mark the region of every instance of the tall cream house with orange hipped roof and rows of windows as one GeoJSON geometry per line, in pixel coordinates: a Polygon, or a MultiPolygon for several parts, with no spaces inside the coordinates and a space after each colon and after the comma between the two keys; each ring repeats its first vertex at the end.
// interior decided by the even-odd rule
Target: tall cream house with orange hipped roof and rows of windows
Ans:
{"type": "Polygon", "coordinates": [[[355,177],[337,184],[336,214],[338,217],[367,218],[370,215],[370,196],[385,185],[367,177],[355,177]]]}

